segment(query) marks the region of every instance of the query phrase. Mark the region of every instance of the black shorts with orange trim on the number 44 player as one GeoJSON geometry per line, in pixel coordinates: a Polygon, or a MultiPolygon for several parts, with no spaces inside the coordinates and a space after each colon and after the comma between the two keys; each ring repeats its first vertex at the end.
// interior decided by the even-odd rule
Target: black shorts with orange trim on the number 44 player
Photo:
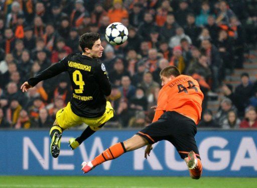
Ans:
{"type": "Polygon", "coordinates": [[[175,111],[168,111],[158,121],[139,131],[137,135],[144,137],[149,144],[161,140],[171,142],[179,152],[180,157],[184,159],[190,151],[194,151],[196,156],[200,158],[195,141],[196,133],[196,125],[193,120],[175,111]]]}

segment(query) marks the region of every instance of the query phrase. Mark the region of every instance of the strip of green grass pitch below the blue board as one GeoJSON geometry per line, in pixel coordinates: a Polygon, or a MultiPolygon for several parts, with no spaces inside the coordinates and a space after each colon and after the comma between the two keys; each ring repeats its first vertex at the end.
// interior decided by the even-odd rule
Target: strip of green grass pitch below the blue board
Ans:
{"type": "Polygon", "coordinates": [[[257,178],[124,177],[124,176],[0,176],[0,187],[256,187],[257,178]]]}

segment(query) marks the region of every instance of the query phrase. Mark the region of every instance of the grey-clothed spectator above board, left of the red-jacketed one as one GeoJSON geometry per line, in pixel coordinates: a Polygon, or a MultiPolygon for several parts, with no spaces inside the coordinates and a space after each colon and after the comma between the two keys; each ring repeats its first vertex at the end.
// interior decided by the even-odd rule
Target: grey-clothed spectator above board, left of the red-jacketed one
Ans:
{"type": "Polygon", "coordinates": [[[225,119],[221,125],[222,129],[238,129],[240,123],[241,121],[237,117],[236,112],[231,110],[227,114],[227,119],[225,119]]]}

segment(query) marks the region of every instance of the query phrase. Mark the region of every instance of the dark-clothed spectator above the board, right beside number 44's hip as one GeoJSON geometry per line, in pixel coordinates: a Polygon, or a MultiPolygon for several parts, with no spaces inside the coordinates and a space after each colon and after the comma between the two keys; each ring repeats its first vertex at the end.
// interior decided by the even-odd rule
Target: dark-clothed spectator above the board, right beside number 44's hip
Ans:
{"type": "Polygon", "coordinates": [[[197,125],[200,128],[221,128],[221,126],[213,119],[211,110],[207,109],[203,112],[203,119],[197,125]]]}

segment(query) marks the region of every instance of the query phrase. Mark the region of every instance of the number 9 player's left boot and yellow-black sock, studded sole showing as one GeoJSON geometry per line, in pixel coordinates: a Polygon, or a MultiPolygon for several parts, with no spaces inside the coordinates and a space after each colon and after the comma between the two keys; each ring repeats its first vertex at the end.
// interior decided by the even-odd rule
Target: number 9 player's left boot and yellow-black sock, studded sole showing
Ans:
{"type": "Polygon", "coordinates": [[[62,129],[54,123],[50,129],[50,137],[52,138],[50,151],[54,158],[57,158],[60,154],[60,143],[62,137],[62,129]]]}

